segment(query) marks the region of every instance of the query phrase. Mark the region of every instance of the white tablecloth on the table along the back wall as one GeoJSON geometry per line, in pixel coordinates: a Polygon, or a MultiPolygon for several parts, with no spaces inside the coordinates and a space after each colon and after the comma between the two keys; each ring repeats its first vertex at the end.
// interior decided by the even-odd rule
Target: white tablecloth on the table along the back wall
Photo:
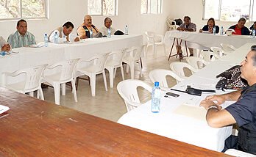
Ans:
{"type": "Polygon", "coordinates": [[[174,37],[178,39],[186,40],[188,43],[193,43],[188,45],[191,48],[198,48],[199,45],[204,47],[210,48],[213,46],[220,47],[221,43],[229,43],[234,45],[235,48],[239,48],[246,43],[256,43],[256,38],[247,35],[231,35],[227,36],[220,35],[220,34],[206,34],[206,33],[199,33],[199,32],[179,32],[179,31],[168,31],[164,37],[164,41],[166,45],[171,46],[173,43],[174,37]]]}

